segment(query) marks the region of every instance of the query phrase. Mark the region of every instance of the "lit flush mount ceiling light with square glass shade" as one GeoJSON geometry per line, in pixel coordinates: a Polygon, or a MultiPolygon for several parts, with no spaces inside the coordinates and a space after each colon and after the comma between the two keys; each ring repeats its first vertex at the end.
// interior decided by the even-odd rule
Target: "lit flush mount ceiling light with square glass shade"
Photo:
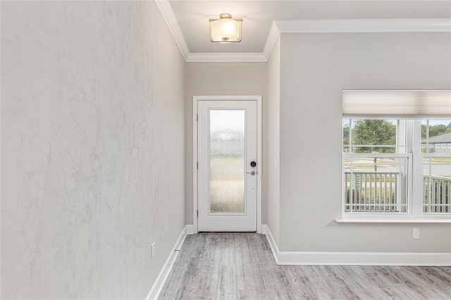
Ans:
{"type": "Polygon", "coordinates": [[[210,19],[210,41],[214,43],[241,42],[242,19],[233,19],[230,13],[221,13],[210,19]]]}

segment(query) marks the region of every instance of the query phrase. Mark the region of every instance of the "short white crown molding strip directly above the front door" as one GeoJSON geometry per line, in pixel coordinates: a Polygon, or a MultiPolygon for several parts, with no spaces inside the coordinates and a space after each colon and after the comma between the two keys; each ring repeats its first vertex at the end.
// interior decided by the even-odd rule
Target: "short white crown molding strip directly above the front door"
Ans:
{"type": "Polygon", "coordinates": [[[230,62],[265,62],[263,53],[190,53],[187,63],[230,63],[230,62]]]}

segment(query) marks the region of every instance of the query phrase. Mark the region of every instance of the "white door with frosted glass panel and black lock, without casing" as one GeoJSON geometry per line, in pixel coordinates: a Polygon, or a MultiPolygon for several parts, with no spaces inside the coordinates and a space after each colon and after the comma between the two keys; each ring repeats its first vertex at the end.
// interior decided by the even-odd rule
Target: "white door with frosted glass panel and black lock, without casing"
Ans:
{"type": "Polygon", "coordinates": [[[198,230],[257,231],[257,101],[199,101],[198,230]]]}

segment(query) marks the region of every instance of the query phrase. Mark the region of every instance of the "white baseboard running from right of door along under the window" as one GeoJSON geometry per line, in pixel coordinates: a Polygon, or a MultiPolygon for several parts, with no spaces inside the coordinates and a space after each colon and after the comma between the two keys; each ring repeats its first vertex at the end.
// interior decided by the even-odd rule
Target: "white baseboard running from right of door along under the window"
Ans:
{"type": "Polygon", "coordinates": [[[280,251],[268,225],[262,226],[278,265],[451,266],[451,253],[280,251]]]}

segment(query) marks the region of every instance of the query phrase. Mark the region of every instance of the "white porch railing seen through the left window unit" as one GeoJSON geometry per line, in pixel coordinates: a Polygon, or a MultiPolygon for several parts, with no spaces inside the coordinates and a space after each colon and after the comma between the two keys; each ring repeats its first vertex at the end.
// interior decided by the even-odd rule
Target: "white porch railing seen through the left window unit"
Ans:
{"type": "Polygon", "coordinates": [[[347,213],[399,213],[407,204],[400,203],[400,172],[345,171],[347,213]]]}

